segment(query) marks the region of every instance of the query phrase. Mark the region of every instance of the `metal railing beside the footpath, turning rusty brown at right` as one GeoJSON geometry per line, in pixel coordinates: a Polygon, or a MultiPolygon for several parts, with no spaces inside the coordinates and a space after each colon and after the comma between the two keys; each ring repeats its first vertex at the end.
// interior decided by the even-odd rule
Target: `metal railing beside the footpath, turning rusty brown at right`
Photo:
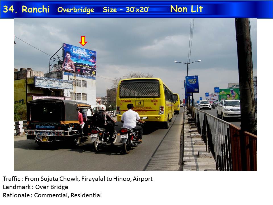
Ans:
{"type": "Polygon", "coordinates": [[[257,136],[189,106],[199,134],[220,170],[257,170],[257,136]]]}

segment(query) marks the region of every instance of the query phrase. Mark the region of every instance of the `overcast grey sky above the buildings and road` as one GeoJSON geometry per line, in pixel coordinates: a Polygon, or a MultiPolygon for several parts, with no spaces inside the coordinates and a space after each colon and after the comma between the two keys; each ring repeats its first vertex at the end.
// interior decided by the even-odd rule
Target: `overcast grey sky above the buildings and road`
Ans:
{"type": "MultiPolygon", "coordinates": [[[[14,19],[18,38],[53,55],[62,43],[97,52],[97,75],[109,79],[130,71],[161,78],[184,98],[191,19],[14,19]]],[[[251,19],[253,75],[257,76],[257,19],[251,19]]],[[[49,56],[15,39],[14,68],[49,70],[49,56]]],[[[239,82],[234,19],[195,19],[189,75],[199,76],[195,100],[239,82]]],[[[111,81],[96,77],[97,97],[106,95],[111,81]]]]}

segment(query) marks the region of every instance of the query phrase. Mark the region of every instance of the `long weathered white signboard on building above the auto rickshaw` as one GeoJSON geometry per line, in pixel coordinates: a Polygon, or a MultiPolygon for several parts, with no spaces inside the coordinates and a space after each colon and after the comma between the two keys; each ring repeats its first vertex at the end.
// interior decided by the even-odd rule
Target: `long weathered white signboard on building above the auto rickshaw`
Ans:
{"type": "Polygon", "coordinates": [[[73,81],[35,76],[34,86],[54,89],[73,89],[73,81]]]}

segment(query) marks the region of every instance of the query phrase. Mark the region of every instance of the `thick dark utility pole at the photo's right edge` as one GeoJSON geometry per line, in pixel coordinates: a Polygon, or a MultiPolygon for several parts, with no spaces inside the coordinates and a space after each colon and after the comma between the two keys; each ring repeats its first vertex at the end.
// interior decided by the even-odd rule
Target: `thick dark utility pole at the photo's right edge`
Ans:
{"type": "Polygon", "coordinates": [[[235,19],[239,69],[241,131],[255,133],[255,102],[249,19],[235,19]]]}

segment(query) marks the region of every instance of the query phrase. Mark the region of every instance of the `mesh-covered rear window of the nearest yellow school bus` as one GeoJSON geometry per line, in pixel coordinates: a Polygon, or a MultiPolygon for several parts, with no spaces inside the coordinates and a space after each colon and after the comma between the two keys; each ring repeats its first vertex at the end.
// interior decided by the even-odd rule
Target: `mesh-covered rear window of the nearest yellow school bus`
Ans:
{"type": "Polygon", "coordinates": [[[159,81],[157,80],[128,80],[121,82],[119,87],[120,98],[148,98],[159,96],[159,81]]]}

